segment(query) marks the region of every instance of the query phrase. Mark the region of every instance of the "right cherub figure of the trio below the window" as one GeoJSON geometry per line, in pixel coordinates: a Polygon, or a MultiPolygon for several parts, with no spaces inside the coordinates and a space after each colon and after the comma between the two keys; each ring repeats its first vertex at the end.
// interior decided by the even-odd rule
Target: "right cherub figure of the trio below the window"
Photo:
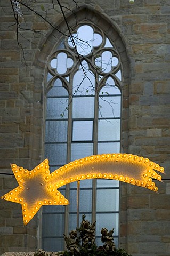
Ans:
{"type": "Polygon", "coordinates": [[[114,228],[110,231],[108,231],[107,228],[102,228],[100,233],[102,234],[101,241],[104,243],[103,248],[107,251],[115,251],[116,246],[113,237],[114,228]]]}

